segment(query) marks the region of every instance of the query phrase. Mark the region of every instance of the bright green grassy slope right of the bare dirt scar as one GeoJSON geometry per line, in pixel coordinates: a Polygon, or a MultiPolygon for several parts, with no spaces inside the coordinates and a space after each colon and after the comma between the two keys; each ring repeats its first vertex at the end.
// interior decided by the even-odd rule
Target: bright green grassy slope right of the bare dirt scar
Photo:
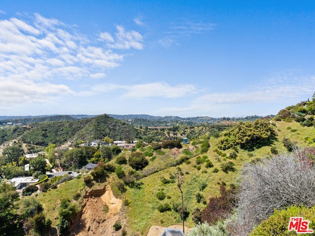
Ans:
{"type": "MultiPolygon", "coordinates": [[[[276,130],[278,133],[278,140],[274,143],[274,146],[277,147],[279,153],[286,152],[282,144],[284,137],[289,138],[291,141],[295,141],[298,146],[305,147],[311,146],[315,147],[313,138],[315,138],[314,127],[302,127],[297,122],[287,123],[284,121],[276,122],[276,130]],[[288,129],[291,127],[291,129],[288,129]],[[292,130],[295,132],[292,132],[292,130]],[[307,138],[308,137],[308,138],[307,138]],[[307,141],[305,141],[307,138],[307,141]]],[[[219,194],[219,184],[224,181],[227,185],[229,183],[235,183],[239,175],[239,171],[242,169],[244,163],[249,162],[255,158],[261,158],[266,155],[270,155],[271,147],[263,147],[257,150],[252,151],[251,153],[245,150],[239,150],[238,157],[236,160],[226,159],[220,157],[221,162],[219,162],[215,156],[217,153],[214,152],[214,149],[217,148],[217,143],[220,138],[211,138],[211,148],[207,152],[207,156],[214,164],[214,168],[217,167],[220,171],[218,173],[212,173],[213,168],[206,169],[204,164],[201,165],[201,170],[197,171],[193,167],[195,164],[196,157],[190,159],[191,164],[187,165],[183,163],[180,165],[180,168],[183,172],[188,171],[188,175],[184,175],[185,183],[183,184],[184,189],[184,204],[188,207],[189,212],[192,212],[195,207],[204,208],[205,205],[202,203],[197,204],[195,195],[199,191],[199,186],[202,182],[206,182],[208,186],[202,192],[200,192],[206,200],[212,196],[218,196],[219,194]],[[229,172],[225,174],[221,171],[221,163],[233,161],[235,163],[236,172],[229,172]],[[202,173],[203,170],[207,170],[208,173],[202,173]]],[[[187,146],[186,146],[187,147],[187,146]]],[[[186,148],[184,146],[184,148],[186,148]]],[[[232,150],[224,151],[227,155],[232,150]]],[[[204,154],[202,154],[204,155],[204,154]]],[[[200,156],[202,156],[200,155],[200,156]]],[[[158,157],[155,161],[158,163],[158,157]]],[[[155,162],[154,161],[154,162],[155,162]]],[[[154,165],[153,163],[150,164],[154,165]]],[[[175,173],[176,168],[170,167],[161,172],[155,173],[151,176],[145,177],[142,179],[144,185],[141,189],[129,189],[126,192],[126,199],[131,201],[129,210],[128,210],[128,219],[130,227],[133,231],[140,233],[141,235],[146,235],[150,226],[152,225],[161,225],[169,226],[172,224],[180,224],[181,218],[174,211],[167,211],[160,213],[157,210],[157,207],[160,203],[169,203],[170,205],[173,202],[181,202],[180,191],[177,188],[176,184],[166,184],[162,185],[160,177],[168,178],[170,173],[175,173]],[[159,190],[163,190],[166,195],[170,196],[170,199],[164,199],[159,201],[156,197],[156,193],[159,190]]],[[[189,214],[188,219],[186,220],[186,225],[189,227],[193,226],[192,215],[189,214]]]]}

